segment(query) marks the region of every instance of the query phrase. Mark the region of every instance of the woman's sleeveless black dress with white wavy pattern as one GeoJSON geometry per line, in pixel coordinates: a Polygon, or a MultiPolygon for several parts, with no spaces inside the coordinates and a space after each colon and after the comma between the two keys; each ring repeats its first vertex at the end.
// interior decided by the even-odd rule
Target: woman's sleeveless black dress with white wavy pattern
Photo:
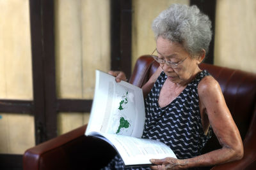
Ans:
{"type": "MultiPolygon", "coordinates": [[[[211,138],[212,128],[205,136],[200,117],[198,84],[207,71],[202,71],[189,83],[172,103],[159,107],[158,98],[167,76],[162,72],[145,99],[146,120],[142,138],[162,141],[178,159],[200,155],[205,143],[211,138]]],[[[150,169],[149,167],[124,167],[118,155],[104,169],[150,169]]]]}

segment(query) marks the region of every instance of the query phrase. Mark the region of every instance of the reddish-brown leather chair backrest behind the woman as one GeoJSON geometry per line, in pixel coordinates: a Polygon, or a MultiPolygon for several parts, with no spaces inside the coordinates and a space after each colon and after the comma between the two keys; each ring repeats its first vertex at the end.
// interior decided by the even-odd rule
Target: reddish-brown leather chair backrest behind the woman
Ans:
{"type": "MultiPolygon", "coordinates": [[[[141,56],[136,62],[130,83],[142,87],[158,66],[150,55],[141,56]]],[[[204,63],[200,64],[200,68],[207,69],[220,83],[225,101],[244,143],[246,140],[256,142],[256,74],[204,63]]],[[[216,148],[220,148],[220,145],[213,136],[203,152],[216,148]]]]}

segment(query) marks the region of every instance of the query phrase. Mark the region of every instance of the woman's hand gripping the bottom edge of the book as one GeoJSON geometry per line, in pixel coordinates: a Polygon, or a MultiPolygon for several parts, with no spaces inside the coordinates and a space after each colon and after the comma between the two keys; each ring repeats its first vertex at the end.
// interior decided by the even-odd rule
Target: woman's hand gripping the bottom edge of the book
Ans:
{"type": "Polygon", "coordinates": [[[172,157],[164,159],[150,159],[150,162],[152,162],[152,164],[156,164],[156,166],[152,166],[151,169],[182,169],[182,160],[172,157]]]}

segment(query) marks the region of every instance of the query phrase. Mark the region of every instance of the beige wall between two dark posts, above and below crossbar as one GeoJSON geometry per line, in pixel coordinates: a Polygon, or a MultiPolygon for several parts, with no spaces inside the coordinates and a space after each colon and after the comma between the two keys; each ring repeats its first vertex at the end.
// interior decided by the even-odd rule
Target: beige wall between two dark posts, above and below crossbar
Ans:
{"type": "MultiPolygon", "coordinates": [[[[110,69],[110,1],[56,0],[58,98],[92,99],[95,69],[110,69]]],[[[88,122],[89,113],[59,113],[58,134],[88,122]]]]}

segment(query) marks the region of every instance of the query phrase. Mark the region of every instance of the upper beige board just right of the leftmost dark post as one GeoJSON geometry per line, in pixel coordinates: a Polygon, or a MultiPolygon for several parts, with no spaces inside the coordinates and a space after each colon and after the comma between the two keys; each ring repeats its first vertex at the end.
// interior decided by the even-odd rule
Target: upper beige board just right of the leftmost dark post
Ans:
{"type": "Polygon", "coordinates": [[[80,1],[55,1],[57,97],[82,98],[82,32],[80,1]]]}

